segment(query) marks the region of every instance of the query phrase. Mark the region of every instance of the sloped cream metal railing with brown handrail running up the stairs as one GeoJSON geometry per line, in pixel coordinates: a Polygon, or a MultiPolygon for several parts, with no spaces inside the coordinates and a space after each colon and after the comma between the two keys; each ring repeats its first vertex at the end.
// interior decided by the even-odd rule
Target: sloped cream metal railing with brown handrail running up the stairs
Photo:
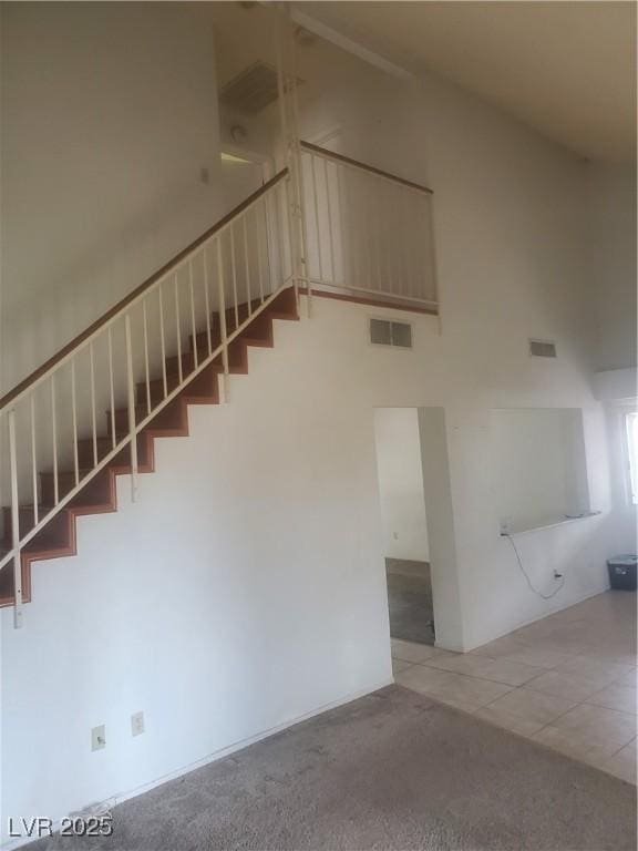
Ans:
{"type": "Polygon", "coordinates": [[[13,564],[17,626],[29,542],[126,447],[134,499],[137,434],[214,362],[227,399],[230,344],[282,289],[297,291],[288,184],[284,168],[0,399],[0,571],[13,564]]]}

